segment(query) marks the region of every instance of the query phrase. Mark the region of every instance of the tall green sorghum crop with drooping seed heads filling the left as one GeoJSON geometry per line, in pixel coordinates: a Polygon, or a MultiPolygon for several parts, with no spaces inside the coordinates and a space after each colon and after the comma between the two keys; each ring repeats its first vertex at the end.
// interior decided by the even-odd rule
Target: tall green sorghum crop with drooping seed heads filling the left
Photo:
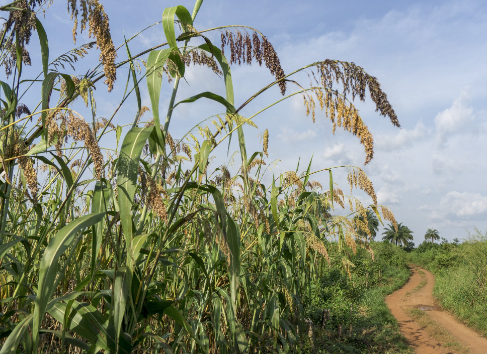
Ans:
{"type": "MultiPolygon", "coordinates": [[[[196,30],[201,0],[192,15],[183,6],[164,10],[161,26],[167,43],[131,55],[131,39],[126,40],[119,48],[129,58],[115,63],[103,6],[83,0],[81,25],[88,22],[97,39],[104,72],[95,68],[71,76],[57,71],[60,63],[67,61],[74,69],[93,43],[49,64],[49,34],[38,19],[37,27],[29,22],[40,3],[1,8],[9,19],[0,41],[0,65],[16,78],[12,86],[0,82],[0,172],[7,176],[0,185],[2,354],[299,352],[297,328],[306,314],[315,316],[317,308],[329,306],[347,316],[364,289],[382,282],[378,267],[404,266],[395,254],[384,257],[386,263],[380,252],[377,264],[368,258],[367,237],[355,232],[359,219],[354,217],[366,209],[360,201],[348,217],[331,214],[334,205],[351,201],[333,180],[333,167],[311,171],[309,162],[302,173],[296,169],[271,180],[264,167],[268,134],[250,159],[245,144],[243,127],[255,128],[263,111],[260,103],[252,106],[253,100],[277,85],[284,98],[269,107],[304,95],[306,113],[314,119],[318,101],[334,124],[360,138],[368,162],[372,136],[347,97],[363,100],[368,89],[380,114],[396,126],[398,121],[376,79],[362,68],[326,60],[286,76],[273,46],[257,30],[196,30]],[[42,80],[22,73],[26,49],[25,37],[19,36],[36,29],[42,80]],[[222,34],[222,47],[228,40],[230,60],[204,35],[208,31],[222,34]],[[205,44],[198,45],[201,41],[205,44]],[[147,53],[145,72],[136,70],[147,53]],[[265,64],[275,80],[235,108],[230,64],[253,60],[265,64]],[[225,97],[204,87],[176,102],[186,67],[194,64],[223,76],[225,97]],[[111,91],[117,68],[129,74],[125,92],[110,119],[104,119],[97,115],[94,87],[105,78],[111,91]],[[301,71],[313,76],[316,86],[303,89],[298,84],[286,95],[289,77],[301,71]],[[163,108],[164,75],[174,86],[163,108]],[[38,81],[40,87],[31,89],[38,81]],[[152,119],[145,122],[142,114],[149,109],[141,105],[141,81],[151,101],[152,119]],[[336,83],[342,92],[333,87],[336,83]],[[39,100],[33,113],[18,102],[19,92],[39,100]],[[127,107],[131,94],[137,103],[127,107]],[[203,98],[219,103],[219,109],[173,138],[169,128],[178,122],[172,122],[178,105],[203,98]],[[88,119],[78,113],[86,108],[88,119]],[[242,116],[244,108],[256,113],[242,116]],[[116,125],[121,110],[137,112],[132,124],[116,125]],[[36,122],[34,116],[40,119],[36,122]],[[235,132],[240,161],[233,167],[211,166],[212,154],[235,132]],[[330,189],[318,193],[321,184],[309,177],[320,171],[329,172],[330,189]],[[332,261],[334,272],[328,268],[332,261]]],[[[75,18],[76,2],[69,6],[75,18]]],[[[294,77],[291,82],[296,83],[294,77]]],[[[374,201],[370,207],[377,210],[365,172],[350,166],[349,173],[350,187],[365,190],[374,201]]],[[[384,206],[381,210],[388,212],[384,206]]],[[[369,226],[374,222],[372,217],[369,226]]],[[[351,320],[359,321],[356,310],[351,320]]]]}

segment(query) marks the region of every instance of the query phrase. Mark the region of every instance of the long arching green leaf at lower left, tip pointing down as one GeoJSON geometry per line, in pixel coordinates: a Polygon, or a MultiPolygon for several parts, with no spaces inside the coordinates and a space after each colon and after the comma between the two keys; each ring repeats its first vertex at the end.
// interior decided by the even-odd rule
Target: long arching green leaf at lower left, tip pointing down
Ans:
{"type": "Polygon", "coordinates": [[[49,241],[39,265],[39,285],[37,287],[32,338],[34,347],[39,341],[39,328],[47,307],[54,294],[59,257],[71,246],[76,233],[100,221],[105,213],[89,214],[79,217],[61,228],[49,241]]]}

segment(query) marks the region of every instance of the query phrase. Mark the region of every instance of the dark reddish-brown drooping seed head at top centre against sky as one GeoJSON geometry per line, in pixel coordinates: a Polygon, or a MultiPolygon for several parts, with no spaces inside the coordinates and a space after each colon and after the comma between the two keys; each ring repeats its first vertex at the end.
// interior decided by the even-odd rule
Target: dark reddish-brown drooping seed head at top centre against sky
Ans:
{"type": "MultiPolygon", "coordinates": [[[[238,63],[240,65],[244,62],[252,65],[252,58],[254,57],[260,66],[264,62],[276,80],[285,76],[274,46],[266,37],[259,36],[257,32],[253,32],[252,39],[247,32],[242,33],[240,30],[221,32],[222,54],[224,54],[226,45],[230,47],[230,64],[238,63]]],[[[284,95],[286,93],[286,81],[279,81],[278,85],[282,95],[284,95]]]]}

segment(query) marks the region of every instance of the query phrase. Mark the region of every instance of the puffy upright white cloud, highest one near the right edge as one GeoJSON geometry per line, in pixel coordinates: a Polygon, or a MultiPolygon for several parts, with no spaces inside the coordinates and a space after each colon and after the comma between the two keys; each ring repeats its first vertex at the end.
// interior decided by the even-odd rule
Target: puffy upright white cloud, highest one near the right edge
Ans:
{"type": "Polygon", "coordinates": [[[451,107],[446,108],[436,115],[435,126],[440,143],[444,142],[447,135],[462,131],[463,127],[474,121],[475,114],[473,108],[465,105],[467,99],[468,93],[463,91],[453,101],[451,107]]]}

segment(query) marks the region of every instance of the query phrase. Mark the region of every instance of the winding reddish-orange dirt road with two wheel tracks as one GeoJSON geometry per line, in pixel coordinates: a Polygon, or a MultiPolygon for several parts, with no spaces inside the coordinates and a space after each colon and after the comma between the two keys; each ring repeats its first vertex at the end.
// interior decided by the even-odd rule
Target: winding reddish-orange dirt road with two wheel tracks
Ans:
{"type": "Polygon", "coordinates": [[[454,353],[431,337],[426,330],[414,321],[408,314],[408,308],[419,308],[446,331],[450,332],[456,341],[469,349],[471,354],[486,354],[487,339],[458,322],[452,315],[441,310],[433,298],[435,276],[427,270],[413,268],[409,281],[399,290],[386,298],[392,315],[399,322],[402,334],[406,337],[417,354],[449,354],[454,353]],[[424,272],[424,273],[423,273],[424,272]],[[426,280],[426,285],[424,282],[426,280]],[[421,285],[424,285],[421,287],[421,285]],[[417,288],[420,286],[420,288],[417,288]]]}

